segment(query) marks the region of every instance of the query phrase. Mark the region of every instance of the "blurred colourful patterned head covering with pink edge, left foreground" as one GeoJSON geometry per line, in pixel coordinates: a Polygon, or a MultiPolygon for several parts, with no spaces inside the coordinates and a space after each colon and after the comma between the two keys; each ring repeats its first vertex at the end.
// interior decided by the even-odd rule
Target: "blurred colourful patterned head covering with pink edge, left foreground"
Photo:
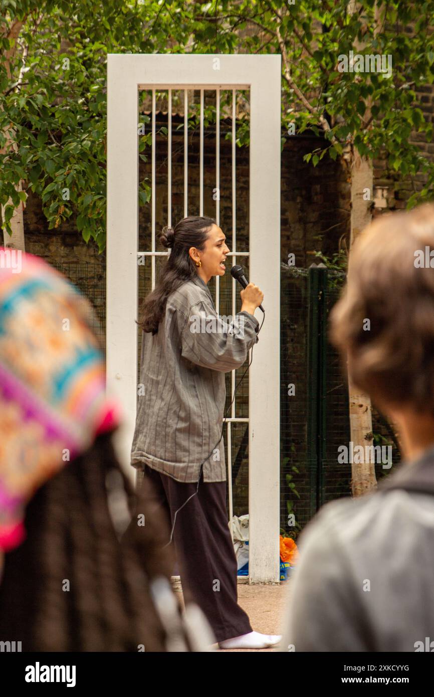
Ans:
{"type": "Polygon", "coordinates": [[[36,489],[120,422],[95,324],[54,268],[0,247],[0,550],[25,539],[36,489]]]}

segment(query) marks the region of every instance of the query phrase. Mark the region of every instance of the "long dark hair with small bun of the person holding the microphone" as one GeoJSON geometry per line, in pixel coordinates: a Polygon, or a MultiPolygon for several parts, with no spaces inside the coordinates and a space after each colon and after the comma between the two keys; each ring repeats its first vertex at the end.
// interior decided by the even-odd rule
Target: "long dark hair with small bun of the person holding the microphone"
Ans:
{"type": "Polygon", "coordinates": [[[203,250],[214,218],[203,215],[189,215],[180,220],[176,227],[164,227],[160,240],[164,247],[171,249],[169,259],[155,284],[155,289],[145,298],[141,317],[137,324],[144,332],[156,334],[158,325],[166,311],[167,298],[186,281],[197,275],[194,261],[188,253],[190,247],[203,250]]]}

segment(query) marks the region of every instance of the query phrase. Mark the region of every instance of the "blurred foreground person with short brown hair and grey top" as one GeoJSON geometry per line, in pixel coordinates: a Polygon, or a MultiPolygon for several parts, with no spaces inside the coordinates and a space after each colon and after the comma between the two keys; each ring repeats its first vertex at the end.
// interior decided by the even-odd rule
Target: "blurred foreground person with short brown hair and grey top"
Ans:
{"type": "Polygon", "coordinates": [[[348,360],[352,382],[396,424],[405,461],[377,491],[327,503],[302,532],[280,650],[430,651],[433,204],[384,215],[363,231],[330,319],[332,342],[348,360]]]}

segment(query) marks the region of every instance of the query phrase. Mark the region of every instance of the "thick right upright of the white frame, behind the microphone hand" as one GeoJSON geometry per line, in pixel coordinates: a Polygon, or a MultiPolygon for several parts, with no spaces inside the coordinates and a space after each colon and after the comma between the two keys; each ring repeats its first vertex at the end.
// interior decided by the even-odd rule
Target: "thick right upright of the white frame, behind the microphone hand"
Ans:
{"type": "Polygon", "coordinates": [[[280,579],[281,56],[263,58],[250,88],[249,280],[267,319],[249,370],[249,583],[280,579]]]}

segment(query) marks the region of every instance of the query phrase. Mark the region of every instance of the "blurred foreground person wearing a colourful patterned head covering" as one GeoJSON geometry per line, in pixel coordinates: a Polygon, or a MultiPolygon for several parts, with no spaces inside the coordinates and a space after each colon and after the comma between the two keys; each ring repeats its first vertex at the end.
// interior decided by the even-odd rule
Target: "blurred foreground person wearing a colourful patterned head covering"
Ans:
{"type": "Polygon", "coordinates": [[[134,496],[114,451],[120,417],[105,395],[91,305],[36,256],[22,254],[20,273],[7,268],[7,252],[0,641],[22,651],[201,650],[210,628],[194,606],[181,617],[164,516],[146,483],[134,496]]]}

